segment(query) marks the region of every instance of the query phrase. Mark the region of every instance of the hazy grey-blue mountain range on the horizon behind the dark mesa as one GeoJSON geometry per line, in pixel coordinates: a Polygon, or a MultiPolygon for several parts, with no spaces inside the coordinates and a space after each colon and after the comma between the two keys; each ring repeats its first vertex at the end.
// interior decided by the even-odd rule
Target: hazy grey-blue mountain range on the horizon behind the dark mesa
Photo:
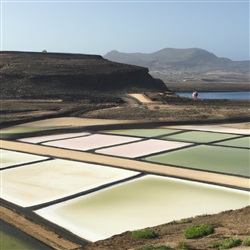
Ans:
{"type": "Polygon", "coordinates": [[[249,62],[219,58],[203,49],[165,48],[154,53],[122,53],[112,50],[104,58],[147,67],[164,81],[249,81],[249,62]]]}

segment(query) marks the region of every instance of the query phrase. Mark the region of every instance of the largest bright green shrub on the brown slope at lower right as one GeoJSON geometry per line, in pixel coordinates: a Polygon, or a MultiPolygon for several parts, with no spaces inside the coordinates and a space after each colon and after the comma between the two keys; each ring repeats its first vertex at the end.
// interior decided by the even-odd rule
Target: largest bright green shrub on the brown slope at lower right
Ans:
{"type": "Polygon", "coordinates": [[[212,234],[213,232],[214,232],[214,228],[212,226],[207,225],[207,224],[202,224],[200,226],[188,227],[184,232],[184,236],[187,239],[194,239],[194,238],[199,238],[202,236],[212,234]]]}

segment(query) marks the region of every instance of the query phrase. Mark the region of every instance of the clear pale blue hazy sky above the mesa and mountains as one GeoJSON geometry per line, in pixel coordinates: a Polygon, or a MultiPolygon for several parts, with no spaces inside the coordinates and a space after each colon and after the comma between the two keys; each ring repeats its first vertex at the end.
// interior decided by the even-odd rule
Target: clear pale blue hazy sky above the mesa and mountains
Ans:
{"type": "Polygon", "coordinates": [[[249,59],[249,0],[0,0],[1,50],[104,55],[202,48],[249,59]]]}

